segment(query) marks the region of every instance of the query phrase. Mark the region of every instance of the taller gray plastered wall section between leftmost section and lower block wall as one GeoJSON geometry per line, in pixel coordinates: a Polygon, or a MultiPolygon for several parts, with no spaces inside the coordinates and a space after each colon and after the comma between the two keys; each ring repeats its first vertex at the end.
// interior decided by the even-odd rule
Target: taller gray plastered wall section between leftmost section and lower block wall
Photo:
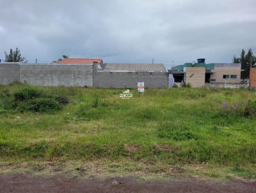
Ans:
{"type": "Polygon", "coordinates": [[[20,64],[20,82],[36,86],[93,86],[92,65],[20,64]]]}

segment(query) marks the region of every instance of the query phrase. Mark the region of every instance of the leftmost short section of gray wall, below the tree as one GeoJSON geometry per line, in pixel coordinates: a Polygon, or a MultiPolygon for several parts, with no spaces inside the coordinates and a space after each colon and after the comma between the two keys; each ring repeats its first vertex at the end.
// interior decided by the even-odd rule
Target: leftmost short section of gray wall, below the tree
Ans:
{"type": "Polygon", "coordinates": [[[0,84],[7,85],[20,82],[19,63],[0,63],[0,84]]]}

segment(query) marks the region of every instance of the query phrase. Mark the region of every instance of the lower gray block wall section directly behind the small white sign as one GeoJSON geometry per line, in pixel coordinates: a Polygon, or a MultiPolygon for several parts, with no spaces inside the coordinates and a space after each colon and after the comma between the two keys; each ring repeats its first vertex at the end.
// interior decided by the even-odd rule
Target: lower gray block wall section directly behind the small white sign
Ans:
{"type": "Polygon", "coordinates": [[[168,72],[95,72],[93,85],[97,88],[137,88],[145,82],[145,88],[168,87],[168,72]]]}

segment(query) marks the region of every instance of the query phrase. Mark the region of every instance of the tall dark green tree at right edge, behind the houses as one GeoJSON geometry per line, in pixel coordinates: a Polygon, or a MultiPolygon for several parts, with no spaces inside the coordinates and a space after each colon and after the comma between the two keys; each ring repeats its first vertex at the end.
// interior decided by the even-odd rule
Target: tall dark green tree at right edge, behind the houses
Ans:
{"type": "Polygon", "coordinates": [[[250,77],[250,68],[256,66],[256,56],[253,55],[252,49],[249,49],[245,54],[244,49],[241,52],[240,58],[236,58],[236,55],[232,59],[233,63],[241,63],[241,79],[248,79],[250,77]]]}

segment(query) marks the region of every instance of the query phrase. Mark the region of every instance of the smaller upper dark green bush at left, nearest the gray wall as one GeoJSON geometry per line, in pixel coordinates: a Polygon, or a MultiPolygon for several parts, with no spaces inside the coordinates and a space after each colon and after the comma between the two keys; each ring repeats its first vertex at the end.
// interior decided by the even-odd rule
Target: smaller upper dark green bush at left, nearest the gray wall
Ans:
{"type": "Polygon", "coordinates": [[[14,93],[14,100],[15,102],[27,101],[40,96],[42,96],[42,91],[35,88],[24,88],[14,93]]]}

